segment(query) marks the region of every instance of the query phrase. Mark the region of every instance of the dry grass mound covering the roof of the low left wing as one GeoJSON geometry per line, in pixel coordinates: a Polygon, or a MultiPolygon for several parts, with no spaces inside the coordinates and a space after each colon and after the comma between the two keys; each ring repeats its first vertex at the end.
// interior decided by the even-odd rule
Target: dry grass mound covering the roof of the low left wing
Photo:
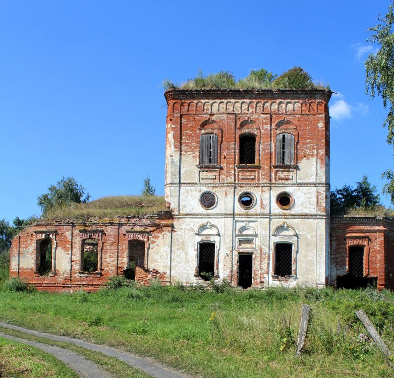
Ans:
{"type": "Polygon", "coordinates": [[[165,210],[162,196],[111,196],[87,204],[70,204],[49,210],[45,219],[115,218],[119,216],[145,216],[165,210]]]}

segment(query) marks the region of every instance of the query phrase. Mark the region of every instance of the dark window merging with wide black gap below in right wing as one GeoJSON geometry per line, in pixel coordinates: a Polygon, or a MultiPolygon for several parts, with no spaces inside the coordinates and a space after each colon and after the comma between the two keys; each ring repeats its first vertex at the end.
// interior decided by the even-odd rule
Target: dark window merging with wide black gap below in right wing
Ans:
{"type": "Polygon", "coordinates": [[[336,287],[344,289],[376,286],[377,278],[364,277],[364,246],[349,247],[349,274],[336,278],[336,287]]]}

